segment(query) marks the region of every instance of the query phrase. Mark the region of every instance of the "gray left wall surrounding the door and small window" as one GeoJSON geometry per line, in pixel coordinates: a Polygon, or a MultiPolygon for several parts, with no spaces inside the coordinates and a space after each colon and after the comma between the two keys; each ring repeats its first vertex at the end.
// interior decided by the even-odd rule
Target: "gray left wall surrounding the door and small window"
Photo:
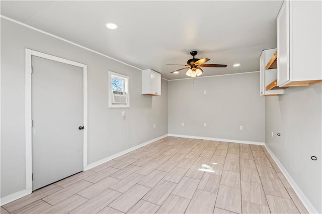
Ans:
{"type": "Polygon", "coordinates": [[[1,197],[25,189],[25,48],[88,65],[89,164],[168,133],[166,80],[142,95],[140,70],[2,19],[1,197]],[[130,76],[129,109],[108,108],[109,70],[130,76]]]}

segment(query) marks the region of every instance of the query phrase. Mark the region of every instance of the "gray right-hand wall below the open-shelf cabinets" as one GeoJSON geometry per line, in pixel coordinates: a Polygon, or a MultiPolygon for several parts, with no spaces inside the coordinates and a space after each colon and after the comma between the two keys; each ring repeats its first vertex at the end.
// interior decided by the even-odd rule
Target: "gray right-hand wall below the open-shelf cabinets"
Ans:
{"type": "Polygon", "coordinates": [[[318,83],[266,98],[266,144],[318,213],[322,213],[321,91],[318,83]]]}

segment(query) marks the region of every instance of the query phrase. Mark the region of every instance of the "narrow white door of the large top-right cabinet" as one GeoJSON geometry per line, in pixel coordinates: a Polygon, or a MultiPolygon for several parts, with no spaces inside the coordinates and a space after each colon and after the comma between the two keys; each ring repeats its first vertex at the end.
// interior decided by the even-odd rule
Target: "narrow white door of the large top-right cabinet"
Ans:
{"type": "Polygon", "coordinates": [[[277,16],[277,85],[289,80],[289,1],[284,1],[277,16]]]}

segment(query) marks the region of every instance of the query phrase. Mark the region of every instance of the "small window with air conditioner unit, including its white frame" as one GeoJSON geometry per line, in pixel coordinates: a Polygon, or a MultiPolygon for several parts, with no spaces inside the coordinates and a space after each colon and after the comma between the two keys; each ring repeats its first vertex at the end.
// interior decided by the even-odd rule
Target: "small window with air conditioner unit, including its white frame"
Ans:
{"type": "Polygon", "coordinates": [[[109,71],[109,108],[130,108],[128,76],[109,71]]]}

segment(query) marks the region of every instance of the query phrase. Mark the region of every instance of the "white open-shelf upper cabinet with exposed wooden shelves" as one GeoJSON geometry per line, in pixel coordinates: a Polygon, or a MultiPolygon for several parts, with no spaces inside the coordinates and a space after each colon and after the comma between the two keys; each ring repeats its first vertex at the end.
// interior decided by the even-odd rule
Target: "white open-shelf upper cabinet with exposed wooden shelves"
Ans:
{"type": "Polygon", "coordinates": [[[271,60],[273,59],[272,61],[274,61],[275,59],[275,52],[276,48],[267,49],[264,50],[260,56],[261,96],[272,96],[284,93],[283,88],[277,87],[276,85],[276,62],[271,63],[271,60]]]}

